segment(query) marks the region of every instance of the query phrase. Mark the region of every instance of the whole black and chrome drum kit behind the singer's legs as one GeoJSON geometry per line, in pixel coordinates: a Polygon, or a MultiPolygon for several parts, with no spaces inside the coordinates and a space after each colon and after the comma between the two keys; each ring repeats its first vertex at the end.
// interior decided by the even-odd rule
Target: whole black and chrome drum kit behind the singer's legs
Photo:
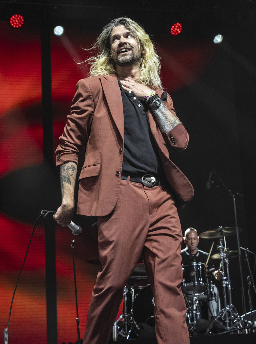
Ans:
{"type": "MultiPolygon", "coordinates": [[[[241,232],[242,229],[238,228],[238,231],[241,232]]],[[[229,250],[226,246],[226,237],[235,234],[235,227],[219,227],[201,233],[199,235],[201,238],[218,239],[219,253],[211,256],[213,243],[206,264],[202,262],[182,264],[181,289],[187,307],[186,322],[190,336],[199,333],[214,334],[233,331],[244,333],[245,327],[250,328],[247,321],[249,313],[240,316],[232,303],[229,259],[237,257],[238,251],[229,250]],[[213,298],[216,301],[216,287],[214,288],[212,281],[212,272],[217,269],[212,268],[207,271],[209,258],[221,261],[224,308],[217,314],[212,314],[210,307],[213,298]],[[211,322],[202,319],[202,304],[208,305],[209,313],[212,315],[211,322]]],[[[148,284],[144,264],[137,264],[124,288],[123,314],[114,324],[113,340],[116,341],[118,336],[123,339],[138,337],[141,331],[139,324],[154,326],[154,305],[153,292],[148,284]]],[[[255,312],[251,310],[252,314],[255,312]]]]}

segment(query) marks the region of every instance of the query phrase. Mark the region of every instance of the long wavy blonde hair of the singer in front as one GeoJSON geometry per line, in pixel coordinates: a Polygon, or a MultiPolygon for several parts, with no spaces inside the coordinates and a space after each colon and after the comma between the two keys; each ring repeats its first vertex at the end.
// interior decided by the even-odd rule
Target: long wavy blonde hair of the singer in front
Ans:
{"type": "Polygon", "coordinates": [[[154,45],[142,27],[127,17],[120,17],[111,20],[104,26],[96,42],[89,50],[97,52],[97,56],[89,57],[85,62],[90,64],[90,76],[115,74],[115,63],[111,56],[110,34],[112,30],[119,25],[131,31],[142,50],[140,63],[140,77],[136,80],[144,85],[162,88],[159,77],[160,57],[154,50],[154,45]]]}

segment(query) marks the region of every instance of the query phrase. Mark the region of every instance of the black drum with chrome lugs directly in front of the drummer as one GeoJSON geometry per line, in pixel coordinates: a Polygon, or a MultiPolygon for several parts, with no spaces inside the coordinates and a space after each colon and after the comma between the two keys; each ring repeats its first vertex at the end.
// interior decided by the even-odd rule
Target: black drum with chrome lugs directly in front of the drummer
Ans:
{"type": "Polygon", "coordinates": [[[181,284],[184,294],[203,293],[207,290],[206,268],[204,263],[182,264],[183,280],[181,284]]]}

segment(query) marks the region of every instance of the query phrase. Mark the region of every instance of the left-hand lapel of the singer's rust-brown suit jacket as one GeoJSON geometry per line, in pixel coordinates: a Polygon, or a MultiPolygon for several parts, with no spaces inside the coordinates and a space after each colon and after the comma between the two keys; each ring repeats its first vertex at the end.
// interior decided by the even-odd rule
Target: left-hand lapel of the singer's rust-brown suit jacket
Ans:
{"type": "Polygon", "coordinates": [[[114,74],[100,75],[100,79],[111,116],[124,140],[124,112],[118,80],[114,74]]]}

